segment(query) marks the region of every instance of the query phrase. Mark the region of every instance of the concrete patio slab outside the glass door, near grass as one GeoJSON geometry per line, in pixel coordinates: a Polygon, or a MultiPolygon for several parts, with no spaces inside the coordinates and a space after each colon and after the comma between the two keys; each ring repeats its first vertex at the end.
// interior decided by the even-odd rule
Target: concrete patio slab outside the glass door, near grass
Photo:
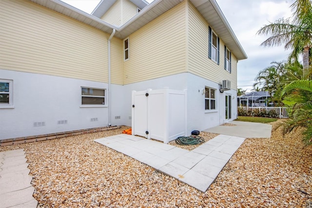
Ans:
{"type": "Polygon", "coordinates": [[[218,125],[203,131],[244,138],[271,137],[272,125],[269,124],[239,121],[232,121],[229,124],[233,124],[234,126],[218,125]]]}

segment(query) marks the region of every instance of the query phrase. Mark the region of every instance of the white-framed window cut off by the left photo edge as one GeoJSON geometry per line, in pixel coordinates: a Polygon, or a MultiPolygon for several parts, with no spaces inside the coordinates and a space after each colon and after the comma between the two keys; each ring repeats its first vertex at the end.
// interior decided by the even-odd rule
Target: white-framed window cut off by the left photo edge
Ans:
{"type": "Polygon", "coordinates": [[[0,108],[13,107],[12,89],[12,80],[0,80],[0,108]]]}

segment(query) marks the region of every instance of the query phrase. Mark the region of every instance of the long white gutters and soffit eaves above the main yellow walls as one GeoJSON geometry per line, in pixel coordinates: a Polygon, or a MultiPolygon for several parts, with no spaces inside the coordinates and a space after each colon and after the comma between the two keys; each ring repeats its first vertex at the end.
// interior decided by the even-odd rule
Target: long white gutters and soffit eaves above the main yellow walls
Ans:
{"type": "MultiPolygon", "coordinates": [[[[142,9],[136,16],[127,21],[120,27],[113,26],[99,18],[85,13],[76,7],[73,7],[61,0],[30,0],[39,5],[52,9],[63,15],[76,19],[78,21],[89,24],[106,33],[112,33],[116,29],[115,36],[124,39],[134,33],[147,23],[153,21],[166,11],[172,9],[183,0],[154,0],[152,3],[142,9]]],[[[215,33],[231,50],[237,60],[247,59],[247,55],[238,42],[232,28],[225,19],[222,11],[215,0],[190,0],[200,14],[206,19],[209,25],[214,29],[215,33]]]]}

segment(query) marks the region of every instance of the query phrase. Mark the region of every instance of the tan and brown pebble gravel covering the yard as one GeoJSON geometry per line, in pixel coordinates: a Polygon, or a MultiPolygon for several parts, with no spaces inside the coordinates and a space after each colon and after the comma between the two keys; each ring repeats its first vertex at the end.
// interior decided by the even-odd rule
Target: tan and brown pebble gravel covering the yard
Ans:
{"type": "Polygon", "coordinates": [[[211,187],[202,193],[94,139],[120,129],[24,148],[38,207],[307,207],[312,204],[312,146],[300,132],[246,139],[211,187]]]}

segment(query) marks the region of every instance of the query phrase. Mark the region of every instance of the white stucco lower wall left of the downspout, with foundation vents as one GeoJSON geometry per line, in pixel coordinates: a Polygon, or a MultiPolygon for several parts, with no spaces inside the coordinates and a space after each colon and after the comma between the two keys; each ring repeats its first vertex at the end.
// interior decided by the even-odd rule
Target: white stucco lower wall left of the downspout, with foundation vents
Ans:
{"type": "Polygon", "coordinates": [[[106,83],[1,69],[0,75],[13,80],[14,104],[0,108],[0,139],[107,126],[107,107],[80,107],[81,86],[106,83]]]}

